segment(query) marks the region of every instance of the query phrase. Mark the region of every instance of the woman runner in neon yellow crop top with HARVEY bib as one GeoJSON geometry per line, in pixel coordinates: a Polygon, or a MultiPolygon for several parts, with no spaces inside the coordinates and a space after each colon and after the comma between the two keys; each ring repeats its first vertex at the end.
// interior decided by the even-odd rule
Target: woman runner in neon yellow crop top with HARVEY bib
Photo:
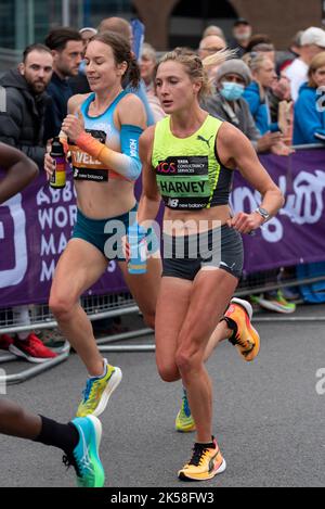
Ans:
{"type": "MultiPolygon", "coordinates": [[[[169,116],[140,139],[143,194],[138,219],[147,227],[162,198],[165,249],[156,361],[162,380],[182,379],[197,431],[192,459],[179,478],[203,481],[225,470],[212,435],[212,390],[204,366],[209,338],[240,277],[240,233],[275,215],[283,195],[249,140],[200,109],[208,79],[196,55],[182,50],[167,53],[157,69],[156,87],[169,116]],[[229,192],[235,168],[262,201],[256,212],[231,217],[229,192]]],[[[231,305],[224,317],[224,326],[234,329],[233,340],[240,332],[240,320],[235,319],[239,307],[231,305]]],[[[258,348],[258,333],[252,328],[250,333],[252,347],[258,348]]]]}

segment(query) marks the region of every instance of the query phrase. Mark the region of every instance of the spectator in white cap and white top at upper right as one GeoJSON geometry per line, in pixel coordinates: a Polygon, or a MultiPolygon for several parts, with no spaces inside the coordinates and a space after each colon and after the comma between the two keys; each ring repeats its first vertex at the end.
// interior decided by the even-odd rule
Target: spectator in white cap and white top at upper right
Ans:
{"type": "Polygon", "coordinates": [[[300,55],[285,69],[290,80],[291,97],[297,101],[299,89],[308,80],[308,68],[313,58],[325,49],[325,31],[311,26],[303,31],[300,38],[300,55]]]}

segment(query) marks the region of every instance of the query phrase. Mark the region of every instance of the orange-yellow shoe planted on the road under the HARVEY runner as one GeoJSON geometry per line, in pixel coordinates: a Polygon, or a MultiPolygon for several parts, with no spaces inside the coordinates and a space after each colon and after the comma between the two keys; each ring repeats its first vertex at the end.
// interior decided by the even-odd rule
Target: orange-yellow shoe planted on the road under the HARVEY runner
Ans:
{"type": "Polygon", "coordinates": [[[213,438],[211,444],[194,444],[192,459],[179,471],[181,481],[207,481],[224,472],[226,463],[213,438]]]}

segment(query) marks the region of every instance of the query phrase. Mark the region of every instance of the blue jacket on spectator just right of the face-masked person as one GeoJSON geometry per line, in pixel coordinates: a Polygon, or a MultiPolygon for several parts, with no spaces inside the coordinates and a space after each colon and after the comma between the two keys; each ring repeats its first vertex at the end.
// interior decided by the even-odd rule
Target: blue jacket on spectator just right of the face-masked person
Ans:
{"type": "Polygon", "coordinates": [[[260,88],[257,81],[251,81],[251,84],[246,87],[243,98],[248,102],[250,113],[261,135],[265,135],[268,131],[278,131],[277,123],[271,123],[270,107],[268,103],[265,101],[261,101],[260,88]]]}

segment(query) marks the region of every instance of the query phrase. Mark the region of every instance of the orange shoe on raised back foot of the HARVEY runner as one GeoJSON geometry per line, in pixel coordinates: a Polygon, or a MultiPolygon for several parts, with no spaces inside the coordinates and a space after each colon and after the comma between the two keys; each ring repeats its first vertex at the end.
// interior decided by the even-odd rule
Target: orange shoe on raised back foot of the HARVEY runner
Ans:
{"type": "Polygon", "coordinates": [[[232,298],[224,314],[224,320],[234,331],[229,341],[248,362],[253,360],[260,351],[260,336],[250,323],[251,316],[252,308],[249,302],[236,297],[232,298]]]}

